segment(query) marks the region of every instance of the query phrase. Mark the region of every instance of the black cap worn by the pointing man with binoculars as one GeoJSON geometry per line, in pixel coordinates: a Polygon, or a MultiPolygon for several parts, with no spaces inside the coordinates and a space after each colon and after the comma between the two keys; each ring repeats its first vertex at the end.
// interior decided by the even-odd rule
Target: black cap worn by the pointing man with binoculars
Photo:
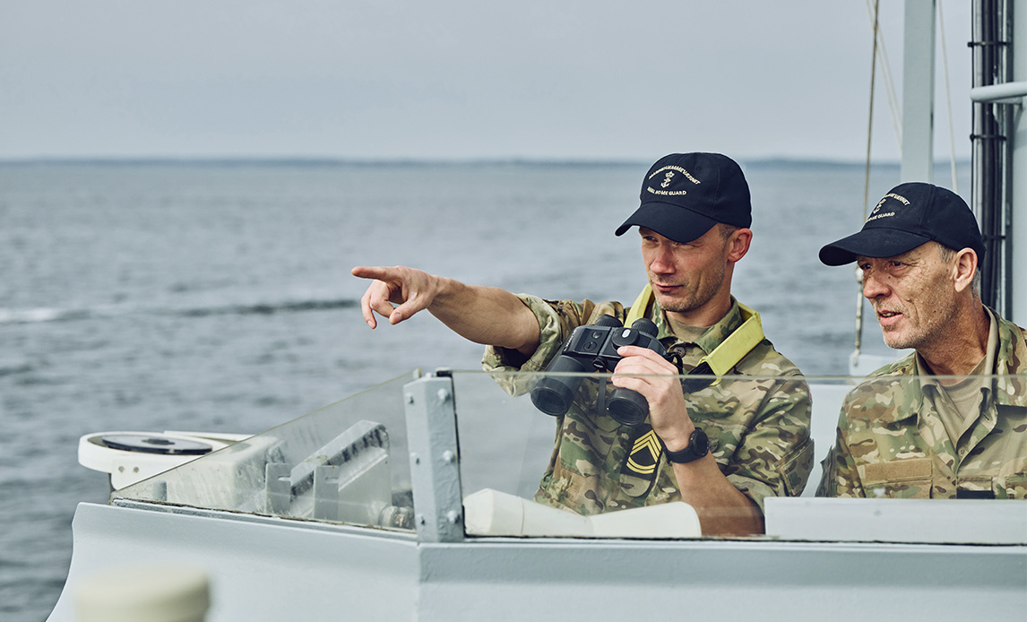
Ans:
{"type": "Polygon", "coordinates": [[[719,153],[663,156],[642,181],[641,199],[635,213],[617,227],[617,235],[637,225],[684,244],[717,223],[753,224],[746,176],[737,162],[719,153]]]}

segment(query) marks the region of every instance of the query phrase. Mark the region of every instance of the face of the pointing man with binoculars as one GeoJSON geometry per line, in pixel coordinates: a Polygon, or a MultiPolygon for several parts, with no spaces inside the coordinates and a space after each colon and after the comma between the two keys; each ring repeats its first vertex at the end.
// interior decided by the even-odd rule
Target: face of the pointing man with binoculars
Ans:
{"type": "Polygon", "coordinates": [[[646,228],[639,233],[649,284],[664,311],[687,314],[698,310],[727,286],[727,241],[720,227],[714,226],[687,244],[646,228]]]}

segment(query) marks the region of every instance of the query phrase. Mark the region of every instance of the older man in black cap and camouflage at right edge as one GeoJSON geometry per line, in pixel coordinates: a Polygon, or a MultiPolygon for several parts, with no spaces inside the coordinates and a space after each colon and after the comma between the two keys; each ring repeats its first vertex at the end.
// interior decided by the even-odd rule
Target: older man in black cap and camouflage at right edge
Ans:
{"type": "Polygon", "coordinates": [[[1027,345],[981,303],[983,257],[966,203],[924,183],[821,249],[829,266],[857,262],[884,342],[915,351],[846,396],[817,495],[1027,498],[1027,382],[1006,376],[1027,371],[1027,345]]]}

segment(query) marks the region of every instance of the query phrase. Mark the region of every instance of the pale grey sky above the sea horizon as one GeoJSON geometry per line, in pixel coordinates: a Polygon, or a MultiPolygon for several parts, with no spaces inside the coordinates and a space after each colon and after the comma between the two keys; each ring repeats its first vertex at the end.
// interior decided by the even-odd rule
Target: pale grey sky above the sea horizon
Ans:
{"type": "MultiPolygon", "coordinates": [[[[881,5],[901,96],[903,3],[881,5]]],[[[960,157],[968,5],[943,1],[960,157]]],[[[870,33],[866,0],[0,0],[0,158],[859,161],[870,33]]]]}

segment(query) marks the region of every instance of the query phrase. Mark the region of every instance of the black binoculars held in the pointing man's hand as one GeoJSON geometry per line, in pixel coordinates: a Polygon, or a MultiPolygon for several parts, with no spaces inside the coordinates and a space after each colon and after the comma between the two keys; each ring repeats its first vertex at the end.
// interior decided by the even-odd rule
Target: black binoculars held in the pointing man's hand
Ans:
{"type": "MultiPolygon", "coordinates": [[[[613,372],[623,358],[617,354],[621,346],[648,348],[665,356],[663,346],[656,341],[657,332],[656,324],[644,317],[627,328],[612,315],[601,315],[595,324],[574,328],[545,372],[613,372]]],[[[542,377],[531,390],[531,401],[546,415],[566,415],[580,382],[580,376],[542,377]]],[[[637,426],[648,417],[649,403],[638,392],[617,387],[606,399],[606,412],[621,425],[637,426]]]]}

